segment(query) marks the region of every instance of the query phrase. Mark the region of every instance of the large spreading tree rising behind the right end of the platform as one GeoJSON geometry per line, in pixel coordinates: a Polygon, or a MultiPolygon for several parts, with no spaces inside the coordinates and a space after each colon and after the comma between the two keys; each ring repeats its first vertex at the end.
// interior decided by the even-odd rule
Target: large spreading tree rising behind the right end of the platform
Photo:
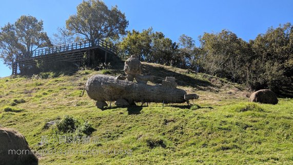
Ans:
{"type": "Polygon", "coordinates": [[[99,0],[83,1],[77,6],[77,14],[71,15],[66,21],[68,30],[82,34],[88,40],[118,38],[119,34],[125,34],[127,26],[125,14],[117,6],[108,9],[99,0]]]}

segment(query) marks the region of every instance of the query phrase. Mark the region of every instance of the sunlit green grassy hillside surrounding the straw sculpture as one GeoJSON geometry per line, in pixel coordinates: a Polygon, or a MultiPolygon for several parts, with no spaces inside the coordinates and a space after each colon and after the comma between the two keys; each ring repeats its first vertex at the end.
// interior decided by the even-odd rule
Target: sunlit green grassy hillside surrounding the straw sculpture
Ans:
{"type": "Polygon", "coordinates": [[[191,107],[151,103],[101,111],[86,94],[80,97],[91,75],[119,75],[122,68],[1,78],[0,126],[21,132],[33,150],[131,150],[131,154],[39,154],[40,164],[293,164],[293,99],[279,98],[277,105],[249,103],[241,85],[147,63],[144,74],[155,76],[150,84],[173,76],[179,88],[200,99],[191,107]],[[95,129],[91,137],[98,137],[98,142],[40,143],[42,136],[85,135],[63,133],[56,124],[46,124],[65,115],[80,125],[88,121],[95,129]]]}

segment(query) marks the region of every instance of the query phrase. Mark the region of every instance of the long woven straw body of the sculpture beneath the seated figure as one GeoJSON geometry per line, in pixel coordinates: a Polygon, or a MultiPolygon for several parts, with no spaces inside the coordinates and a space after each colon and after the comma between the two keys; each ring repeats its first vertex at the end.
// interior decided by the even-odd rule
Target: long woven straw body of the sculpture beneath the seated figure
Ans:
{"type": "Polygon", "coordinates": [[[125,78],[128,79],[128,75],[118,77],[94,75],[86,82],[85,90],[91,99],[96,100],[96,106],[101,109],[108,106],[105,101],[116,101],[115,104],[118,106],[128,106],[134,104],[134,102],[187,102],[189,104],[190,99],[199,98],[196,94],[188,95],[185,90],[178,89],[173,77],[166,77],[162,84],[155,85],[147,85],[147,79],[152,77],[141,76],[139,72],[131,75],[130,81],[124,80],[125,78]],[[133,82],[133,78],[139,83],[133,82]],[[140,81],[142,82],[140,83],[140,81]]]}

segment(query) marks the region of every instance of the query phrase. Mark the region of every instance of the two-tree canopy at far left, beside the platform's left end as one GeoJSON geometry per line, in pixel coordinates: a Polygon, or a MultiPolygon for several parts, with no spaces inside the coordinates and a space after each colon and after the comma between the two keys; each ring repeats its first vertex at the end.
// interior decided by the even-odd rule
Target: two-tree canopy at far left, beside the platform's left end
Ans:
{"type": "Polygon", "coordinates": [[[43,31],[43,21],[33,16],[22,15],[14,24],[8,23],[1,28],[0,58],[9,68],[16,59],[30,56],[26,52],[51,45],[47,33],[43,31]]]}

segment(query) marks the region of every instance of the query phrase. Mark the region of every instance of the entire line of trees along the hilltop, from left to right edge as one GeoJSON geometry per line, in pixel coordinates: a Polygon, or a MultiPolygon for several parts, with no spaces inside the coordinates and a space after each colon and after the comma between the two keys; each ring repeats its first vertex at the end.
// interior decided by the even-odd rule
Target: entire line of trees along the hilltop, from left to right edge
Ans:
{"type": "MultiPolygon", "coordinates": [[[[185,34],[173,42],[163,32],[152,28],[125,31],[126,16],[117,6],[109,9],[100,0],[83,1],[77,13],[66,21],[66,29],[53,34],[54,44],[68,44],[74,38],[103,38],[118,41],[119,56],[138,55],[141,61],[159,63],[205,72],[210,75],[243,83],[250,89],[269,88],[281,91],[291,88],[293,80],[293,26],[290,23],[268,28],[249,42],[229,30],[204,33],[200,46],[185,34]],[[120,38],[122,36],[122,38],[120,38]]],[[[96,44],[92,40],[91,44],[96,44]]],[[[51,46],[43,21],[23,15],[0,31],[0,58],[10,68],[15,59],[30,56],[28,51],[51,46]],[[23,52],[20,56],[20,52],[23,52]]],[[[91,51],[91,56],[95,52],[91,51]]],[[[291,89],[290,89],[291,90],[291,89]]]]}

